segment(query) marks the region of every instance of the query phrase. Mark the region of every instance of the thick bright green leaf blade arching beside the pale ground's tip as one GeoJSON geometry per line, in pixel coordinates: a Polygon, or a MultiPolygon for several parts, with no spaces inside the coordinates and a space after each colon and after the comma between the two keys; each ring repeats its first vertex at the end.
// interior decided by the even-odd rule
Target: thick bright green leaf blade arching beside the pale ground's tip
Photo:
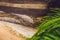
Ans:
{"type": "MultiPolygon", "coordinates": [[[[40,37],[43,38],[44,34],[48,35],[48,33],[49,33],[48,30],[51,31],[51,28],[54,29],[54,28],[60,27],[60,24],[59,24],[59,26],[56,26],[56,27],[54,26],[54,24],[59,22],[59,21],[60,21],[60,18],[55,18],[55,19],[49,20],[49,21],[41,24],[39,26],[39,28],[37,29],[38,30],[37,33],[30,40],[38,40],[38,39],[40,39],[40,37]],[[41,34],[43,34],[43,35],[41,35],[41,34]]],[[[53,36],[53,35],[51,35],[51,36],[53,36]]]]}

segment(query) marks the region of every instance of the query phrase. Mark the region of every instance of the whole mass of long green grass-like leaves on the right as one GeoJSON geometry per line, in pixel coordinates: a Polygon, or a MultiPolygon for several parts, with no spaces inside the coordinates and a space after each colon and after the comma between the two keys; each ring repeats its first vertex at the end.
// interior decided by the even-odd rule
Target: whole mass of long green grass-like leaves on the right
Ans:
{"type": "Polygon", "coordinates": [[[45,22],[39,25],[30,40],[60,40],[60,8],[51,8],[51,13],[42,18],[45,22]]]}

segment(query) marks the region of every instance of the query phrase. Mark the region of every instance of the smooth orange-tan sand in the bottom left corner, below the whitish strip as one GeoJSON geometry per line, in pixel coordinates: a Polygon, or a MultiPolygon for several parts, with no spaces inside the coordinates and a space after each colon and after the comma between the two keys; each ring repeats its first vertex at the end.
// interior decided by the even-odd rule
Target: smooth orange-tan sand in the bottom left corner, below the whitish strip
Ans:
{"type": "Polygon", "coordinates": [[[0,40],[20,40],[19,37],[8,31],[8,28],[0,24],[0,40]]]}

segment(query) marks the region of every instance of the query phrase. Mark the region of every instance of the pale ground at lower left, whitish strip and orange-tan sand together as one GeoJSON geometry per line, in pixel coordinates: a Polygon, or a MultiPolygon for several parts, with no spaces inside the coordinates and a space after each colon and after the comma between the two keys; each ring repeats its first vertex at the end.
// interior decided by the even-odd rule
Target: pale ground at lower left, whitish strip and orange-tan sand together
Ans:
{"type": "Polygon", "coordinates": [[[11,30],[9,27],[28,38],[32,37],[36,32],[36,30],[33,28],[0,21],[0,40],[24,40],[24,38],[21,36],[19,37],[16,34],[10,32],[11,30]]]}

